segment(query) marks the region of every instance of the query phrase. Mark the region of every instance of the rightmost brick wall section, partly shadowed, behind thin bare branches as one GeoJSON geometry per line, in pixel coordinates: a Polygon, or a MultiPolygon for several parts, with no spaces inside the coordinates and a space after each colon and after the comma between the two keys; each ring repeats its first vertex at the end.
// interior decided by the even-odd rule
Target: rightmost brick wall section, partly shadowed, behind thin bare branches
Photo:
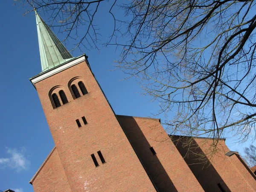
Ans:
{"type": "MultiPolygon", "coordinates": [[[[177,137],[173,140],[176,139],[177,137]]],[[[175,142],[175,144],[180,154],[185,157],[187,149],[182,147],[183,142],[185,141],[182,139],[178,143],[175,142]]],[[[205,154],[206,160],[209,160],[208,163],[202,163],[202,161],[198,159],[198,156],[192,153],[184,158],[204,190],[212,192],[221,191],[217,185],[220,183],[227,192],[255,191],[256,180],[241,163],[236,154],[230,157],[225,155],[226,152],[230,151],[227,145],[225,145],[225,141],[219,140],[214,154],[209,151],[211,144],[212,140],[195,138],[192,140],[192,145],[190,146],[192,153],[205,154]]]]}

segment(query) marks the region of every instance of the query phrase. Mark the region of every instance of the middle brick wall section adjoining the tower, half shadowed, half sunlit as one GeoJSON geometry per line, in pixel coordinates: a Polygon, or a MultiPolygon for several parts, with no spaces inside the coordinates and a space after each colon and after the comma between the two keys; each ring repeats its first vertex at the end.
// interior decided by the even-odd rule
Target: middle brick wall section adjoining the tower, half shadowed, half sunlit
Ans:
{"type": "Polygon", "coordinates": [[[118,116],[160,192],[204,191],[158,119],[118,116]],[[150,151],[153,147],[156,155],[150,151]]]}

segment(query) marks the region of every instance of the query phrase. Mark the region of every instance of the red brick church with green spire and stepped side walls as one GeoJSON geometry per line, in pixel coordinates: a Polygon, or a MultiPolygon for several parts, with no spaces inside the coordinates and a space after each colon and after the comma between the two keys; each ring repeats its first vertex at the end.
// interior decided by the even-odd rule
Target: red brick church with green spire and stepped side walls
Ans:
{"type": "Polygon", "coordinates": [[[256,176],[225,140],[170,138],[160,119],[116,115],[87,56],[73,57],[36,13],[42,72],[30,78],[55,147],[29,181],[35,192],[253,192],[256,176]],[[184,158],[183,158],[184,157],[184,158]]]}

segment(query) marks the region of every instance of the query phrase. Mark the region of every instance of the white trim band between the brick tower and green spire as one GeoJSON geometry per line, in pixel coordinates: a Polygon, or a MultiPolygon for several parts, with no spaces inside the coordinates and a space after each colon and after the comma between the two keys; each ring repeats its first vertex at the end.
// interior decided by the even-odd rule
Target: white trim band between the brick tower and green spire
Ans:
{"type": "Polygon", "coordinates": [[[62,66],[60,66],[60,67],[58,67],[58,68],[56,68],[54,70],[51,70],[51,71],[49,71],[47,73],[44,73],[41,76],[35,77],[34,79],[31,79],[31,82],[33,84],[35,84],[35,83],[37,83],[39,81],[42,81],[43,79],[47,79],[48,77],[55,75],[56,73],[60,73],[61,71],[66,70],[67,68],[70,68],[70,67],[72,67],[72,66],[74,66],[76,64],[79,64],[82,61],[85,61],[85,56],[77,58],[77,59],[75,59],[73,61],[70,61],[69,63],[64,64],[64,65],[62,65],[62,66]]]}

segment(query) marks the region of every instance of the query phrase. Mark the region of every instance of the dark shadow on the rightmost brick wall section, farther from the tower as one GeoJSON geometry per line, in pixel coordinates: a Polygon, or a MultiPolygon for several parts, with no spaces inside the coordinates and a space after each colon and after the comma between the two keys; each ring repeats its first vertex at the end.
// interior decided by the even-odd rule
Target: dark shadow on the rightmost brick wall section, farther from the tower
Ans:
{"type": "MultiPolygon", "coordinates": [[[[204,157],[207,163],[202,163],[197,156],[194,156],[191,153],[189,153],[190,154],[189,157],[186,156],[188,149],[183,148],[182,146],[182,143],[184,140],[186,140],[186,138],[181,138],[179,141],[177,141],[177,137],[174,137],[172,138],[172,140],[176,148],[182,155],[182,157],[184,157],[184,160],[186,161],[190,170],[192,171],[192,173],[197,178],[198,182],[203,187],[204,191],[231,192],[228,186],[226,185],[226,183],[224,183],[221,176],[216,171],[216,169],[209,162],[209,159],[207,157],[204,157]]],[[[192,143],[190,146],[191,146],[190,151],[192,151],[192,153],[205,155],[194,139],[192,140],[192,143]]]]}

